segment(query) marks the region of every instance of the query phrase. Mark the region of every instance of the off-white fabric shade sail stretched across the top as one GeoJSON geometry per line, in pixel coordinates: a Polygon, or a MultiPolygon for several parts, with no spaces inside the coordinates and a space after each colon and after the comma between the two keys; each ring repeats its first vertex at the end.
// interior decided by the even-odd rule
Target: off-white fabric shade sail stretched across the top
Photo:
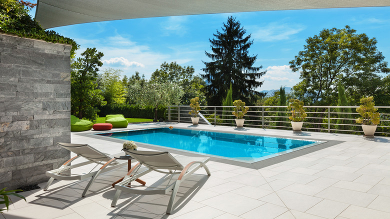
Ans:
{"type": "Polygon", "coordinates": [[[43,28],[106,20],[225,12],[389,6],[390,0],[38,0],[43,28]]]}

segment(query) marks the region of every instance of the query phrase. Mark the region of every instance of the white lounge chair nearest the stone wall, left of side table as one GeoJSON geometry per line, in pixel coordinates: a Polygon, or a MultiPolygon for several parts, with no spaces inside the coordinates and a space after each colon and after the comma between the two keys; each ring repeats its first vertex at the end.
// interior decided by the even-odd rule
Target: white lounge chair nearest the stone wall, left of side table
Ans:
{"type": "Polygon", "coordinates": [[[95,148],[89,146],[88,144],[60,143],[60,142],[57,142],[57,144],[72,151],[77,155],[70,158],[65,163],[63,163],[59,168],[46,172],[46,175],[50,176],[50,179],[47,181],[43,190],[47,190],[47,188],[50,186],[54,178],[60,180],[84,180],[90,178],[88,184],[86,185],[84,191],[82,192],[82,196],[84,197],[89,187],[91,186],[93,181],[100,173],[107,172],[115,168],[127,165],[127,162],[118,162],[116,161],[115,158],[113,158],[112,155],[102,153],[96,150],[95,148]],[[70,163],[78,157],[83,157],[87,159],[87,161],[70,165],[70,163]],[[71,171],[71,169],[73,168],[87,165],[90,163],[96,163],[96,165],[87,173],[69,174],[69,171],[67,171],[67,170],[71,171]],[[102,166],[96,169],[96,167],[99,164],[101,164],[102,166]]]}

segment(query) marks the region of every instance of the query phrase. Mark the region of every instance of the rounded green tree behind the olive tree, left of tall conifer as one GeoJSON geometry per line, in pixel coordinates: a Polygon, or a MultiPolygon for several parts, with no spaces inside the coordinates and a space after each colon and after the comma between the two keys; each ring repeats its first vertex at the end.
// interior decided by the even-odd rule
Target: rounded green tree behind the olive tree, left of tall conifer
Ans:
{"type": "Polygon", "coordinates": [[[199,77],[194,76],[195,69],[192,66],[181,66],[176,62],[164,62],[160,69],[156,69],[150,77],[150,80],[164,83],[172,82],[183,88],[184,94],[181,98],[184,105],[190,104],[190,99],[199,97],[199,104],[206,105],[206,100],[201,89],[206,85],[199,77]]]}

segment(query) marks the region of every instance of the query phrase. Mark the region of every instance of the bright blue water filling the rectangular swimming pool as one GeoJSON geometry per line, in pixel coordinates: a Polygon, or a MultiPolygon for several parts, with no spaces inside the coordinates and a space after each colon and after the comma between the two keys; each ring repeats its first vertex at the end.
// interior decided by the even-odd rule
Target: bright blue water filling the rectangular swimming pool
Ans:
{"type": "Polygon", "coordinates": [[[98,135],[133,140],[244,162],[256,162],[322,141],[221,133],[203,130],[152,128],[101,133],[98,135]]]}

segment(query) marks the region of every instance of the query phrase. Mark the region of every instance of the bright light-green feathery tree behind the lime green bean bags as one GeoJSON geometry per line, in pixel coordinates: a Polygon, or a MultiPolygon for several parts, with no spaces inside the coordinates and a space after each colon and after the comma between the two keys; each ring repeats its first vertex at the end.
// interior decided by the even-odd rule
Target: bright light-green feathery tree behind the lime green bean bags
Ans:
{"type": "Polygon", "coordinates": [[[122,70],[106,68],[99,76],[99,88],[107,104],[122,104],[125,101],[125,86],[120,80],[122,70]]]}

